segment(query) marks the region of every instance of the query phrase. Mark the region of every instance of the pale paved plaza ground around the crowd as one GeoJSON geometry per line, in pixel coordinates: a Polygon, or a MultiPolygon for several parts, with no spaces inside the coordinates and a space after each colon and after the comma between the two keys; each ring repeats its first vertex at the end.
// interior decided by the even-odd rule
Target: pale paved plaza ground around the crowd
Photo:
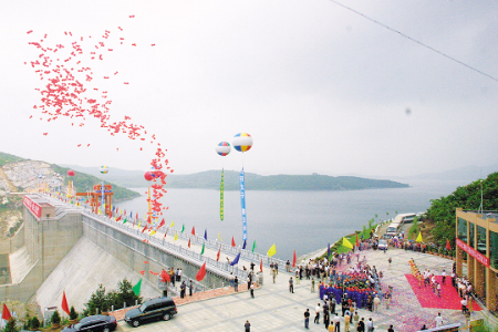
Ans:
{"type": "MultiPolygon", "coordinates": [[[[401,249],[390,249],[386,253],[382,251],[361,251],[361,258],[366,257],[370,266],[375,266],[377,271],[383,271],[382,288],[394,287],[391,309],[381,304],[378,313],[367,310],[359,310],[360,317],[372,318],[375,331],[387,331],[390,324],[395,331],[417,331],[423,324],[427,328],[435,326],[435,318],[442,313],[445,323],[464,323],[465,317],[460,310],[425,309],[422,308],[415,293],[409,287],[405,274],[411,273],[408,260],[413,258],[423,271],[428,268],[436,274],[443,269],[452,271],[453,260],[437,256],[423,255],[401,249]],[[393,262],[388,269],[387,259],[393,262]]],[[[355,262],[356,259],[353,260],[355,262]]],[[[258,269],[259,266],[256,267],[258,269]]],[[[284,269],[284,267],[281,267],[284,269]]],[[[178,314],[170,321],[152,322],[137,329],[131,328],[124,321],[120,321],[118,329],[136,332],[155,331],[245,331],[243,324],[249,320],[251,331],[305,331],[303,313],[310,309],[310,331],[325,331],[321,315],[321,323],[314,324],[314,308],[317,303],[323,302],[318,291],[311,292],[311,281],[294,281],[294,293],[289,292],[290,274],[279,272],[276,283],[272,282],[270,269],[263,268],[264,282],[262,288],[255,291],[255,299],[250,298],[247,286],[239,288],[240,292],[231,290],[225,294],[197,301],[178,304],[178,314]]],[[[479,313],[475,313],[479,315],[479,313]]],[[[333,315],[331,315],[331,319],[333,315]]],[[[344,331],[342,320],[341,330],[344,331]]],[[[353,331],[351,329],[350,331],[353,331]]]]}

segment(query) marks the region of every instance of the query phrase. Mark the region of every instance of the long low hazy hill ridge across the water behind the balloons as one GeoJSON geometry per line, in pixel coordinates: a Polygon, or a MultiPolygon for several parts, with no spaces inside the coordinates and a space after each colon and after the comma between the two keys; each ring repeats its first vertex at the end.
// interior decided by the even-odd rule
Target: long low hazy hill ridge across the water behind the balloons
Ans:
{"type": "MultiPolygon", "coordinates": [[[[74,170],[98,175],[97,167],[66,165],[74,170]]],[[[112,168],[103,176],[106,180],[121,186],[137,188],[147,187],[143,170],[125,170],[112,168]]],[[[169,174],[166,178],[169,188],[206,188],[217,189],[220,186],[221,172],[206,170],[189,175],[169,174]]],[[[262,176],[246,173],[246,188],[249,190],[357,190],[373,188],[406,188],[406,184],[385,179],[367,179],[355,176],[328,175],[269,175],[262,176]]],[[[225,170],[225,189],[239,189],[239,172],[225,170]]]]}

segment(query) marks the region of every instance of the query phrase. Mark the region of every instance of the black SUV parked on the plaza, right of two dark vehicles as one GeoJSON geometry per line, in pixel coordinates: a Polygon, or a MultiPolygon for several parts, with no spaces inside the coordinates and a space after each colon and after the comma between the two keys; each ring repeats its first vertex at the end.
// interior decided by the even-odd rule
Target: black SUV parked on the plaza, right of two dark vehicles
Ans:
{"type": "Polygon", "coordinates": [[[125,322],[136,328],[146,321],[168,321],[178,311],[172,298],[158,298],[144,302],[141,307],[126,311],[125,322]]]}

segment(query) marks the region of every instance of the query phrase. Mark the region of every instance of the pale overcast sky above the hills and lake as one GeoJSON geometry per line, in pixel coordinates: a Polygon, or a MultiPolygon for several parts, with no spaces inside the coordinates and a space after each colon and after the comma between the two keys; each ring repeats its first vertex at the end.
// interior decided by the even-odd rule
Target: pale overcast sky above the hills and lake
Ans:
{"type": "MultiPolygon", "coordinates": [[[[497,1],[340,2],[498,77],[497,1]]],[[[326,0],[3,1],[0,152],[149,169],[153,145],[33,108],[46,81],[28,43],[84,37],[87,54],[106,30],[114,51],[82,60],[89,96],[108,91],[111,116],[154,133],[175,173],[388,177],[498,163],[497,80],[326,0]],[[218,156],[238,133],[252,148],[218,156]]]]}

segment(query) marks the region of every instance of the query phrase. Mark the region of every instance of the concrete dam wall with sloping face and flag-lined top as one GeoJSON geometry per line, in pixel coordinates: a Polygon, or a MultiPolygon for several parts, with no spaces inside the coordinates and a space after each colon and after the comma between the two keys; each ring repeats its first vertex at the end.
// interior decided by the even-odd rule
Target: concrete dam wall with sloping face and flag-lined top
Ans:
{"type": "MultiPolygon", "coordinates": [[[[116,222],[115,218],[93,214],[89,207],[68,204],[50,195],[25,195],[23,205],[23,225],[9,243],[0,246],[0,253],[8,256],[8,263],[1,267],[0,297],[38,303],[42,311],[46,307],[60,307],[63,291],[69,305],[81,311],[98,284],[106,291],[114,290],[124,278],[132,284],[142,279],[144,299],[159,297],[163,293],[158,276],[162,269],[180,268],[184,278],[194,279],[195,289],[199,291],[228,284],[230,273],[246,280],[248,271],[238,268],[242,263],[259,266],[278,261],[284,264],[218,240],[165,228],[168,237],[176,234],[180,239],[176,245],[165,240],[166,236],[144,234],[132,222],[116,222]],[[181,245],[186,240],[204,243],[210,255],[189,250],[181,245]],[[216,252],[222,252],[224,259],[215,259],[216,252]],[[238,266],[227,263],[227,259],[238,253],[241,255],[238,266]],[[195,276],[204,262],[207,274],[197,282],[195,276]]],[[[175,289],[169,290],[175,293],[175,289]]]]}

